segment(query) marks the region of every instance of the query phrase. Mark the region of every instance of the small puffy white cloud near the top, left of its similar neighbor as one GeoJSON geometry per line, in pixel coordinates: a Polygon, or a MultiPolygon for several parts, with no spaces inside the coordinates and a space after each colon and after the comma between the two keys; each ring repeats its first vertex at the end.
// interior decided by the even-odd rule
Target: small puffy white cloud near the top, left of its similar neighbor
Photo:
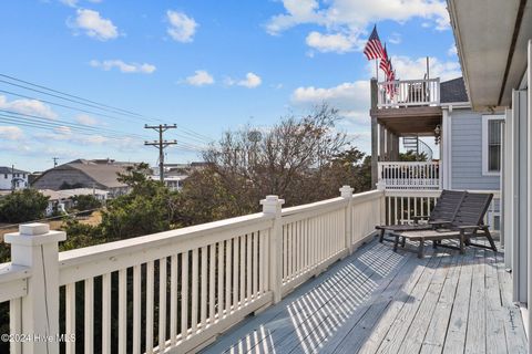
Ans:
{"type": "Polygon", "coordinates": [[[88,9],[78,9],[78,17],[70,25],[84,31],[86,35],[100,41],[112,40],[119,37],[119,30],[109,19],[100,15],[100,12],[88,9]]]}

